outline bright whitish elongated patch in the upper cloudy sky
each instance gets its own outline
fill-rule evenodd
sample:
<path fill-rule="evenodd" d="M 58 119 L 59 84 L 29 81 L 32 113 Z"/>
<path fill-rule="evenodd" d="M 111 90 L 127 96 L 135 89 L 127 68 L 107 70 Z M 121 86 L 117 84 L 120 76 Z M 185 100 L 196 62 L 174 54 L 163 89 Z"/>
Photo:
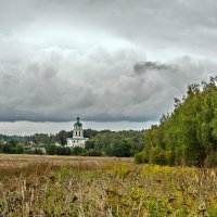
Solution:
<path fill-rule="evenodd" d="M 29 27 L 17 35 L 18 40 L 35 48 L 61 47 L 66 49 L 87 50 L 90 47 L 103 47 L 108 51 L 120 48 L 130 48 L 132 43 L 103 31 L 95 31 L 94 29 L 68 27 L 68 26 L 53 26 L 51 24 Z"/>

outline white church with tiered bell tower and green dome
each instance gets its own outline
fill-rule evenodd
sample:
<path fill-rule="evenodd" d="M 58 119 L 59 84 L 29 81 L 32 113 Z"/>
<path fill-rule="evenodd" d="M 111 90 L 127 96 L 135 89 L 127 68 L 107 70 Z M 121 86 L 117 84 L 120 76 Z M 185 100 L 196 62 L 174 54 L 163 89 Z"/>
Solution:
<path fill-rule="evenodd" d="M 81 146 L 85 148 L 88 138 L 84 138 L 84 130 L 82 124 L 80 123 L 80 118 L 77 117 L 77 122 L 74 124 L 73 129 L 73 138 L 67 138 L 66 146 L 74 148 L 74 146 Z"/>

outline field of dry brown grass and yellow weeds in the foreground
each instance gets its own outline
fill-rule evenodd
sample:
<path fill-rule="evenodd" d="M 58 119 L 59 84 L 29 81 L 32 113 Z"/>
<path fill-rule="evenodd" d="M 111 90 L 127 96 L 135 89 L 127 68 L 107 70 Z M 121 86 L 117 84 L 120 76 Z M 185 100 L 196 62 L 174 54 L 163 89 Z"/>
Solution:
<path fill-rule="evenodd" d="M 217 216 L 217 169 L 0 155 L 0 216 Z"/>

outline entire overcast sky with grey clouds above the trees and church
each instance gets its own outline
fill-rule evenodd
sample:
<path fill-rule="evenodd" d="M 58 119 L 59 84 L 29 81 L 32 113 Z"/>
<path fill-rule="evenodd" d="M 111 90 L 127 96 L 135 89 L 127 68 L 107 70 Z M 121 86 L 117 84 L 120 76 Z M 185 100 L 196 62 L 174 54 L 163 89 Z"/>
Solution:
<path fill-rule="evenodd" d="M 0 133 L 144 129 L 216 76 L 215 0 L 0 0 Z"/>

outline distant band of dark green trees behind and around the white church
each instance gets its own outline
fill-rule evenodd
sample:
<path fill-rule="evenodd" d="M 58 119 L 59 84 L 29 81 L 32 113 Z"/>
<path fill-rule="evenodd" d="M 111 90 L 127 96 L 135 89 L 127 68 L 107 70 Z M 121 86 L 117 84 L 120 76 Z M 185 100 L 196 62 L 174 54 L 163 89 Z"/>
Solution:
<path fill-rule="evenodd" d="M 124 130 L 84 130 L 89 138 L 85 148 L 66 148 L 66 139 L 73 131 L 62 130 L 56 135 L 36 133 L 34 136 L 0 135 L 0 152 L 50 155 L 87 155 L 87 156 L 133 156 L 144 146 L 144 131 Z"/>

